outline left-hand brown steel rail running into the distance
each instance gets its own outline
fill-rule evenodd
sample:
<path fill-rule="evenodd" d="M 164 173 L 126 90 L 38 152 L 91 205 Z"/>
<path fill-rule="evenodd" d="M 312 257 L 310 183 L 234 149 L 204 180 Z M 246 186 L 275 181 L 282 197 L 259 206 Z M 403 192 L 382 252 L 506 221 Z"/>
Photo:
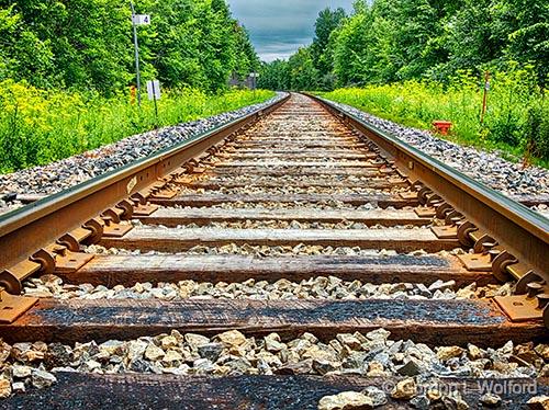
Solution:
<path fill-rule="evenodd" d="M 278 109 L 289 98 L 288 94 L 266 107 L 173 147 L 0 216 L 0 272 L 158 182 L 225 137 Z"/>

